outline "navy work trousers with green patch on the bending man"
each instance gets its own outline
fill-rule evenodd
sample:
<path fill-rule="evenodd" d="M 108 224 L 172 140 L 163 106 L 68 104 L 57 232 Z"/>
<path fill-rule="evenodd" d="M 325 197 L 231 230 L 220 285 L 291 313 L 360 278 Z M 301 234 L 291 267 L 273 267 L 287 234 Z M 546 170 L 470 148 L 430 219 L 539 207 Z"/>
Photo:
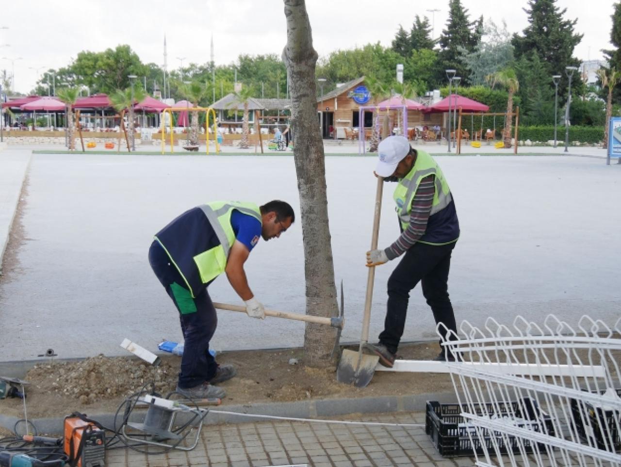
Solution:
<path fill-rule="evenodd" d="M 213 378 L 217 370 L 215 358 L 209 353 L 209 340 L 218 324 L 214 304 L 207 288 L 192 298 L 181 274 L 170 262 L 164 248 L 155 240 L 149 248 L 149 263 L 179 311 L 181 332 L 185 340 L 179 388 L 194 388 Z"/>

